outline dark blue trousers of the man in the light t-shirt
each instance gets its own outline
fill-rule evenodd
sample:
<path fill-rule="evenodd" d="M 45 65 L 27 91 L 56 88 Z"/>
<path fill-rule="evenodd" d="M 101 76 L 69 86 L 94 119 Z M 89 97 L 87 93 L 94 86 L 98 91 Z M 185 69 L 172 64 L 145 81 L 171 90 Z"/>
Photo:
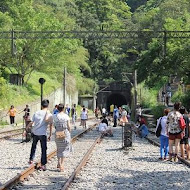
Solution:
<path fill-rule="evenodd" d="M 41 163 L 42 165 L 45 165 L 47 163 L 47 137 L 45 135 L 34 135 L 33 136 L 33 142 L 30 152 L 30 160 L 34 160 L 35 152 L 36 152 L 36 145 L 38 141 L 40 140 L 41 144 Z"/>

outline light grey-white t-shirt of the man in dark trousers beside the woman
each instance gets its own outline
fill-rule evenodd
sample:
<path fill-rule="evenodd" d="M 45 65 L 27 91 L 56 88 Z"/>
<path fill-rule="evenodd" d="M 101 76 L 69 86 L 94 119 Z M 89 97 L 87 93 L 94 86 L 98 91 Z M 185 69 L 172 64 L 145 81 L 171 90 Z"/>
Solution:
<path fill-rule="evenodd" d="M 32 122 L 34 122 L 34 127 L 32 127 L 32 133 L 34 135 L 47 135 L 47 126 L 49 123 L 45 122 L 46 112 L 46 110 L 39 110 L 33 115 Z M 52 114 L 48 113 L 47 117 L 52 117 Z"/>

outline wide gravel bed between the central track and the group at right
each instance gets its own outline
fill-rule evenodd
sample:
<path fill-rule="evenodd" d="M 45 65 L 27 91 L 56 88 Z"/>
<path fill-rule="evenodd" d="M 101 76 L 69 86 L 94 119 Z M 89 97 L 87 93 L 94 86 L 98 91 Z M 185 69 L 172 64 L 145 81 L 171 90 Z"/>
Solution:
<path fill-rule="evenodd" d="M 190 189 L 190 169 L 180 163 L 159 161 L 159 148 L 136 138 L 133 148 L 121 150 L 121 128 L 95 148 L 88 164 L 70 190 L 75 189 Z"/>

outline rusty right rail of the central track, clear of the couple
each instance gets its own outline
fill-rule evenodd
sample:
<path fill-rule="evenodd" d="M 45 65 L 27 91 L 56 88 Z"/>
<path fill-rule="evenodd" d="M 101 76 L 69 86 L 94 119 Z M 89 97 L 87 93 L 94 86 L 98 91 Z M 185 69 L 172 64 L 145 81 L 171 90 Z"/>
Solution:
<path fill-rule="evenodd" d="M 94 150 L 95 146 L 97 143 L 101 142 L 101 136 L 99 136 L 94 143 L 92 144 L 92 146 L 90 147 L 90 149 L 88 150 L 88 152 L 84 155 L 83 159 L 81 160 L 81 162 L 79 163 L 79 165 L 76 167 L 76 169 L 74 170 L 74 172 L 71 174 L 71 176 L 67 179 L 65 185 L 63 186 L 62 190 L 67 190 L 70 186 L 70 184 L 72 183 L 72 181 L 75 179 L 76 175 L 81 171 L 81 169 L 84 167 L 84 165 L 87 163 L 88 158 L 90 156 L 90 154 L 92 153 L 92 151 Z"/>

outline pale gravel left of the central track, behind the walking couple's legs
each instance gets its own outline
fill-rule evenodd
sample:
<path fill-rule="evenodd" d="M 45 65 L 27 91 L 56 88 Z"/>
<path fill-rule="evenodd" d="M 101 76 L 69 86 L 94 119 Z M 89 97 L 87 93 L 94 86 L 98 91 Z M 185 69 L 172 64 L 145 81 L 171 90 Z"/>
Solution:
<path fill-rule="evenodd" d="M 89 120 L 88 125 L 95 123 L 95 120 Z M 77 122 L 77 130 L 72 130 L 72 136 L 78 134 L 84 129 L 79 126 Z M 9 179 L 16 176 L 18 173 L 22 172 L 24 169 L 29 167 L 28 160 L 31 149 L 31 142 L 21 143 L 22 137 L 13 137 L 8 140 L 2 140 L 0 149 L 0 185 L 7 182 Z M 47 144 L 47 153 L 50 153 L 56 149 L 54 134 L 52 139 Z M 41 148 L 40 142 L 38 142 L 35 161 L 41 158 Z"/>

